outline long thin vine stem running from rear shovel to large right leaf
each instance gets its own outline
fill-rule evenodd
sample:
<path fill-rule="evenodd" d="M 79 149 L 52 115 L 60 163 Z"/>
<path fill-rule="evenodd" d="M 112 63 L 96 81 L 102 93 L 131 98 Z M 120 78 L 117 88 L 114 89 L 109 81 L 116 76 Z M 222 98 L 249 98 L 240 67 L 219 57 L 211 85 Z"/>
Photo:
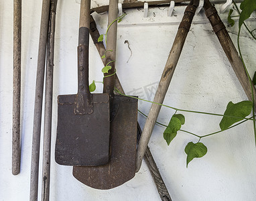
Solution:
<path fill-rule="evenodd" d="M 150 100 L 145 100 L 145 99 L 142 99 L 142 98 L 137 98 L 137 97 L 134 97 L 134 96 L 128 96 L 128 95 L 122 94 L 117 88 L 115 88 L 115 90 L 116 90 L 117 93 L 121 94 L 122 96 L 127 96 L 127 97 L 130 97 L 130 98 L 135 98 L 137 100 L 143 100 L 145 102 L 161 105 L 161 106 L 164 106 L 164 107 L 168 107 L 168 108 L 176 110 L 176 111 L 182 111 L 182 112 L 187 112 L 187 113 L 199 113 L 199 114 L 203 114 L 203 115 L 214 115 L 214 116 L 220 116 L 220 117 L 232 117 L 232 118 L 236 118 L 236 119 L 252 120 L 252 119 L 249 119 L 249 118 L 234 117 L 234 116 L 230 116 L 230 115 L 220 115 L 220 114 L 216 114 L 216 113 L 205 113 L 205 112 L 201 112 L 201 111 L 190 111 L 190 110 L 178 109 L 176 107 L 171 107 L 169 105 L 164 105 L 164 104 L 161 104 L 161 103 L 155 103 L 155 102 L 150 101 Z"/>

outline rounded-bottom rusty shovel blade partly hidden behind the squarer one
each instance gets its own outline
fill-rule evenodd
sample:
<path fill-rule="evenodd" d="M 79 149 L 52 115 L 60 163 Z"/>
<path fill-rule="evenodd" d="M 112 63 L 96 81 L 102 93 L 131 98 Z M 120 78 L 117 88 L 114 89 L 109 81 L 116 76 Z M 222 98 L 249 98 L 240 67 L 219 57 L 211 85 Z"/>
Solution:
<path fill-rule="evenodd" d="M 73 176 L 92 188 L 111 189 L 135 176 L 137 99 L 115 96 L 117 113 L 111 121 L 111 158 L 107 165 L 73 167 Z"/>

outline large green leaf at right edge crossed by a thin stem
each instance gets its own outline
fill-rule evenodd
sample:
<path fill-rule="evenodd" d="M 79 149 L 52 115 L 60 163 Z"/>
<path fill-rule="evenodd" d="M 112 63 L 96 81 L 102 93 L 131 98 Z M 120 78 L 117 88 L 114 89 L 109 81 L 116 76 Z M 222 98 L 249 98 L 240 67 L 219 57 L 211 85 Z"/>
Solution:
<path fill-rule="evenodd" d="M 253 103 L 250 100 L 244 100 L 235 104 L 232 102 L 229 102 L 224 115 L 233 116 L 233 117 L 222 117 L 220 121 L 220 129 L 224 131 L 234 123 L 237 123 L 238 121 L 243 120 L 243 118 L 250 115 L 252 108 L 253 108 Z M 241 118 L 235 118 L 235 117 L 241 117 Z"/>

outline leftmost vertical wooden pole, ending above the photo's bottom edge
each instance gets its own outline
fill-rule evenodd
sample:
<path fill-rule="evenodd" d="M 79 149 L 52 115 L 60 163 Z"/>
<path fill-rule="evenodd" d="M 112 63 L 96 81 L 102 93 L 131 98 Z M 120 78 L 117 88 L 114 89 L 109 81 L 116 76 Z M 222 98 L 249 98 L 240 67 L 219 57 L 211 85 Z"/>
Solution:
<path fill-rule="evenodd" d="M 20 96 L 21 96 L 21 0 L 13 1 L 13 137 L 12 174 L 20 172 Z"/>

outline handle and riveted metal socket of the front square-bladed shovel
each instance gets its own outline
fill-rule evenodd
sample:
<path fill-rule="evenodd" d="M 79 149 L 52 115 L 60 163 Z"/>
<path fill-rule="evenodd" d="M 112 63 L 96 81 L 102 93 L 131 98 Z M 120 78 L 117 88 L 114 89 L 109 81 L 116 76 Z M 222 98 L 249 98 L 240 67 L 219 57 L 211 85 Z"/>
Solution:
<path fill-rule="evenodd" d="M 89 28 L 90 28 L 90 0 L 81 0 L 78 36 L 78 92 L 74 113 L 84 115 L 92 113 L 92 100 L 89 90 Z"/>

